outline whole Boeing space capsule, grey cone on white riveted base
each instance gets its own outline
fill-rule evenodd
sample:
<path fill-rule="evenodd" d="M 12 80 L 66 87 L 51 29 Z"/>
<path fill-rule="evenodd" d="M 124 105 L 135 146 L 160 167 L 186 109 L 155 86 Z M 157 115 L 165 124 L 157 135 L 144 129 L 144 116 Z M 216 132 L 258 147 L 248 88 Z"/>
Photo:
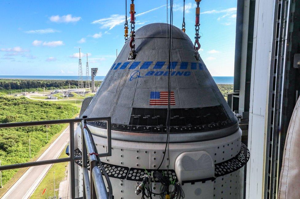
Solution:
<path fill-rule="evenodd" d="M 170 24 L 148 24 L 136 31 L 135 59 L 128 59 L 129 40 L 92 100 L 85 100 L 81 116 L 111 117 L 112 156 L 101 159 L 115 199 L 141 198 L 136 187 L 156 171 L 179 182 L 185 198 L 240 198 L 243 166 L 249 151 L 242 131 L 191 39 Z M 170 74 L 170 76 L 169 76 Z M 168 87 L 170 77 L 171 86 Z M 89 122 L 98 153 L 106 152 L 106 123 Z M 81 129 L 77 128 L 77 154 Z M 78 180 L 82 167 L 77 164 Z M 166 173 L 168 169 L 168 174 Z M 83 195 L 78 183 L 78 196 Z M 152 182 L 152 198 L 160 198 L 161 184 Z"/>

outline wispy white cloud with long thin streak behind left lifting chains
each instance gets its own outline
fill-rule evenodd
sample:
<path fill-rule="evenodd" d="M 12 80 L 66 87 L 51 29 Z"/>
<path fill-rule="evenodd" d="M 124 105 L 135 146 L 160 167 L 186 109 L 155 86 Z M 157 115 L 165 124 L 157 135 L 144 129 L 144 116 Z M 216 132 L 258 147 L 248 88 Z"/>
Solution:
<path fill-rule="evenodd" d="M 143 13 L 136 14 L 135 16 L 136 17 L 141 16 L 143 14 L 152 12 L 152 11 L 154 11 L 156 9 L 159 9 L 159 8 L 162 8 L 164 6 L 166 6 L 166 5 L 150 9 L 150 10 L 145 11 Z M 130 21 L 130 18 L 128 20 L 128 24 L 129 24 L 129 21 Z M 92 22 L 92 24 L 101 24 L 101 28 L 109 28 L 109 30 L 111 30 L 117 25 L 124 24 L 124 22 L 125 22 L 125 15 L 113 14 L 110 17 L 95 20 L 95 21 Z"/>

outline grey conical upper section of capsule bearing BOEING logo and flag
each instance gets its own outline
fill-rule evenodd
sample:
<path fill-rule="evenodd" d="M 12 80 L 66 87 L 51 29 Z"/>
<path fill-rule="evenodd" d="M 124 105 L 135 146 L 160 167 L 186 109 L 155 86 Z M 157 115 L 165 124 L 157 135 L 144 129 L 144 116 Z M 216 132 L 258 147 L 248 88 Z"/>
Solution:
<path fill-rule="evenodd" d="M 164 23 L 136 31 L 136 58 L 128 60 L 129 40 L 120 51 L 85 111 L 88 117 L 112 117 L 112 130 L 165 133 L 168 114 L 168 70 L 171 70 L 171 133 L 213 131 L 237 124 L 203 60 L 195 58 L 191 39 Z M 102 122 L 91 123 L 103 127 Z M 224 131 L 220 137 L 237 130 Z"/>

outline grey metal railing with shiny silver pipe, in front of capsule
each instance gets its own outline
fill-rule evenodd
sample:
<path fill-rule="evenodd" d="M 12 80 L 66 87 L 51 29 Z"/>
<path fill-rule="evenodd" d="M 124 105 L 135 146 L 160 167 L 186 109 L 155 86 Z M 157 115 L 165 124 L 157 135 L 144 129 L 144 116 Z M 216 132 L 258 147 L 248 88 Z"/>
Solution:
<path fill-rule="evenodd" d="M 82 124 L 86 124 L 86 122 L 96 122 L 96 121 L 107 121 L 107 138 L 108 138 L 108 152 L 99 154 L 99 157 L 111 156 L 111 118 L 84 118 L 84 122 L 82 118 L 75 119 L 62 119 L 62 120 L 45 120 L 45 121 L 35 121 L 35 122 L 16 122 L 16 123 L 2 123 L 0 124 L 0 128 L 14 128 L 14 127 L 24 127 L 24 126 L 39 126 L 39 125 L 51 125 L 51 124 L 65 124 L 69 123 L 70 127 L 70 142 L 69 142 L 69 157 L 68 158 L 60 158 L 60 159 L 52 159 L 52 160 L 41 160 L 35 162 L 26 162 L 26 163 L 18 163 L 18 164 L 10 164 L 0 166 L 0 171 L 9 170 L 9 169 L 17 169 L 23 167 L 33 167 L 45 164 L 53 164 L 53 163 L 61 163 L 61 162 L 70 162 L 70 195 L 71 198 L 75 198 L 75 161 L 82 160 L 83 163 L 83 182 L 84 182 L 84 198 L 108 198 L 108 194 L 106 192 L 104 180 L 101 174 L 99 167 L 97 164 L 101 164 L 99 158 L 97 158 L 97 153 L 94 148 L 93 137 L 90 136 L 88 128 L 81 128 L 82 132 L 85 132 L 84 136 L 82 136 L 82 145 L 86 147 L 82 147 L 82 156 L 74 156 L 74 123 L 81 122 Z M 85 125 L 84 125 L 85 126 Z M 85 130 L 83 130 L 85 129 Z M 92 189 L 90 192 L 89 189 L 89 174 L 87 169 L 87 152 L 89 152 L 89 162 L 90 162 L 90 171 L 91 171 L 91 185 Z M 92 153 L 92 154 L 91 154 Z M 93 154 L 94 153 L 94 154 Z M 92 160 L 92 161 L 91 161 Z M 97 161 L 96 161 L 97 160 Z M 99 160 L 99 161 L 98 161 Z M 102 166 L 102 164 L 101 164 Z M 95 167 L 95 168 L 94 168 Z M 97 167 L 97 168 L 96 168 Z M 106 172 L 104 172 L 106 173 Z M 109 181 L 109 179 L 106 179 Z M 110 184 L 110 182 L 109 182 Z M 103 189 L 105 188 L 105 190 Z M 99 195 L 100 194 L 100 195 Z M 98 197 L 99 195 L 99 197 Z M 102 196 L 103 195 L 103 196 Z M 102 197 L 101 197 L 102 196 Z M 106 197 L 105 197 L 106 196 Z"/>

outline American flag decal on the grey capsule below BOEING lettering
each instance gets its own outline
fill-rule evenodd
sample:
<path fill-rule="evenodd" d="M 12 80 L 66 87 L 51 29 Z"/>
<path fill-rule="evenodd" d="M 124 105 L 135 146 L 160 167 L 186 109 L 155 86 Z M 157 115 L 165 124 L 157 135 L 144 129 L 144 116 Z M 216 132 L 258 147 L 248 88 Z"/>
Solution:
<path fill-rule="evenodd" d="M 150 105 L 168 105 L 168 91 L 151 92 Z M 174 92 L 170 92 L 170 105 L 175 105 Z"/>

